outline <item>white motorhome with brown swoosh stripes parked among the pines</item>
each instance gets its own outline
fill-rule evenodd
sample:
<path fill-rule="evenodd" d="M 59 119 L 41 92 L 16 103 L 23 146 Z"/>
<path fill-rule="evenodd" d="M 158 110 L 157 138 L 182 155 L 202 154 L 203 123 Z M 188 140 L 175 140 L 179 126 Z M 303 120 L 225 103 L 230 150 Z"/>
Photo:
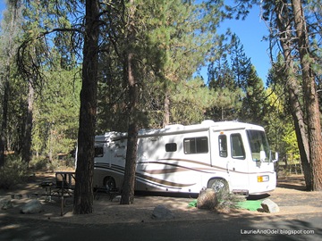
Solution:
<path fill-rule="evenodd" d="M 94 187 L 121 188 L 126 133 L 96 137 Z M 275 189 L 272 152 L 264 129 L 237 121 L 141 129 L 135 190 L 198 194 L 203 187 L 244 195 Z"/>

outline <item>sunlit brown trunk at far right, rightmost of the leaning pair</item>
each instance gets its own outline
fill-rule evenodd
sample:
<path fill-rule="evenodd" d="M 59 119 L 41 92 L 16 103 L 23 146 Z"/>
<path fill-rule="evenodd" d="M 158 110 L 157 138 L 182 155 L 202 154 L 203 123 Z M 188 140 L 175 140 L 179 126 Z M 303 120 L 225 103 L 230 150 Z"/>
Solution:
<path fill-rule="evenodd" d="M 322 191 L 322 137 L 319 120 L 318 93 L 314 73 L 310 68 L 312 59 L 309 54 L 309 38 L 301 0 L 292 0 L 296 35 L 301 60 L 301 77 L 303 79 L 304 103 L 307 107 L 309 135 L 309 163 L 312 172 L 312 191 Z"/>

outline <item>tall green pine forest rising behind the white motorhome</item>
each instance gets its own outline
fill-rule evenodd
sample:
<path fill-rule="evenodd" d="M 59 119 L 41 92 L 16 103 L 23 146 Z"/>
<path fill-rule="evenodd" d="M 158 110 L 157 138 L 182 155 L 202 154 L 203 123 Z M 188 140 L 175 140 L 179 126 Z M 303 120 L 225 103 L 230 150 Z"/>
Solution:
<path fill-rule="evenodd" d="M 21 163 L 55 166 L 58 156 L 75 149 L 89 28 L 98 29 L 92 49 L 97 53 L 97 93 L 92 92 L 96 134 L 129 131 L 132 119 L 136 128 L 239 120 L 263 126 L 281 163 L 302 168 L 301 143 L 310 137 L 311 115 L 302 88 L 306 82 L 293 23 L 295 2 L 8 0 L 0 32 L 0 166 L 10 169 L 3 173 L 12 175 Z M 93 3 L 97 19 L 88 26 L 90 12 L 85 10 Z M 267 23 L 267 79 L 258 77 L 238 36 L 230 29 L 217 31 L 226 19 L 242 21 L 253 4 Z M 320 1 L 302 1 L 301 7 L 320 103 Z M 205 66 L 208 79 L 199 72 Z M 129 73 L 135 77 L 132 87 Z M 294 110 L 303 113 L 302 123 Z M 299 120 L 304 134 L 296 131 Z"/>

